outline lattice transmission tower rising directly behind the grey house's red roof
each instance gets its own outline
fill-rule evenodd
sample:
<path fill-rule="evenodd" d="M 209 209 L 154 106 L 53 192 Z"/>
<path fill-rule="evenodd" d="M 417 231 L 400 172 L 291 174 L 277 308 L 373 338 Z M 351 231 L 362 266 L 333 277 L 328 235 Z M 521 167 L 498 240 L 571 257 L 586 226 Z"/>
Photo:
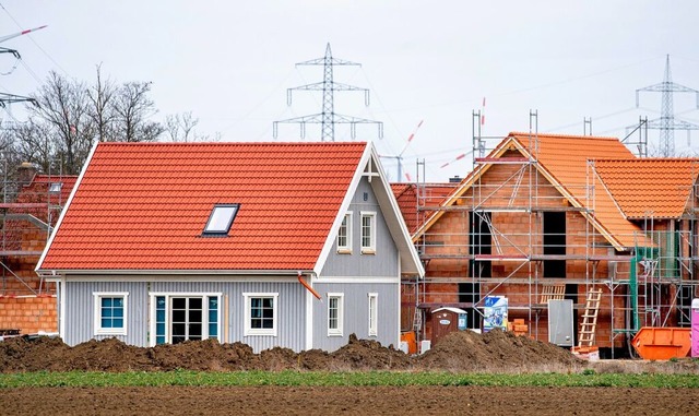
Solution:
<path fill-rule="evenodd" d="M 310 116 L 301 116 L 289 118 L 286 120 L 274 121 L 273 134 L 276 139 L 277 124 L 283 123 L 297 123 L 300 126 L 300 136 L 306 138 L 306 123 L 322 124 L 321 141 L 334 142 L 335 141 L 335 124 L 350 124 L 350 134 L 352 139 L 356 138 L 356 124 L 374 123 L 379 128 L 379 139 L 383 138 L 383 123 L 381 121 L 367 120 L 363 118 L 356 118 L 351 116 L 339 115 L 334 110 L 334 93 L 336 91 L 364 91 L 364 104 L 369 106 L 369 90 L 359 88 L 357 86 L 341 84 L 334 82 L 332 79 L 333 67 L 337 66 L 359 66 L 359 63 L 345 61 L 342 59 L 333 58 L 330 50 L 330 44 L 325 47 L 325 56 L 318 59 L 311 59 L 310 61 L 299 62 L 298 66 L 323 66 L 323 81 L 315 84 L 307 84 L 288 88 L 286 91 L 286 105 L 292 105 L 292 93 L 294 91 L 322 91 L 323 92 L 323 108 L 322 112 Z"/>

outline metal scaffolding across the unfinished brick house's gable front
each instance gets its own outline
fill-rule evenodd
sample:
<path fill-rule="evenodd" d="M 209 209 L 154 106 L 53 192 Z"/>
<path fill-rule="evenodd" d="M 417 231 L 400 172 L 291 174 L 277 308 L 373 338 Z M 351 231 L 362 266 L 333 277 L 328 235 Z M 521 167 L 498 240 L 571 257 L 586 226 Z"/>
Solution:
<path fill-rule="evenodd" d="M 566 187 L 565 192 L 574 193 L 579 202 L 570 203 L 561 198 L 561 187 L 537 169 L 536 112 L 530 114 L 528 157 L 507 150 L 486 157 L 503 138 L 483 136 L 479 119 L 474 112 L 473 171 L 462 182 L 469 186 L 465 193 L 449 201 L 435 198 L 431 186 L 420 182 L 418 170 L 418 223 L 425 224 L 438 211 L 443 221 L 443 226 L 430 227 L 415 241 L 431 272 L 403 288 L 403 299 L 408 300 L 404 305 L 414 305 L 406 316 L 418 340 L 428 337 L 428 311 L 439 307 L 466 310 L 469 326 L 479 330 L 485 299 L 494 295 L 509 298 L 510 313 L 526 318 L 529 335 L 537 340 L 548 333 L 543 325 L 548 321 L 548 300 L 571 299 L 578 338 L 579 312 L 585 309 L 588 294 L 601 288 L 606 290 L 595 322 L 605 330 L 596 342 L 611 349 L 612 358 L 615 349 L 618 354 L 628 348 L 632 355 L 630 340 L 641 326 L 689 324 L 699 260 L 696 185 L 683 218 L 666 222 L 661 230 L 656 227 L 662 222 L 649 213 L 636 222 L 642 235 L 631 236 L 640 242 L 617 251 L 592 224 L 600 198 L 593 162 L 588 162 L 581 189 Z M 484 181 L 485 171 L 497 181 Z"/>

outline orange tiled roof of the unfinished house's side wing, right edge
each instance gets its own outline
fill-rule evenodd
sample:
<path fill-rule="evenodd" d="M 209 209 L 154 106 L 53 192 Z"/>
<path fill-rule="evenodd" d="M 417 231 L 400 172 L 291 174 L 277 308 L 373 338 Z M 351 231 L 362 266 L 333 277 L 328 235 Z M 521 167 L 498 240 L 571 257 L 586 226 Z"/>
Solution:
<path fill-rule="evenodd" d="M 699 159 L 596 161 L 594 168 L 627 218 L 679 218 L 697 182 Z"/>

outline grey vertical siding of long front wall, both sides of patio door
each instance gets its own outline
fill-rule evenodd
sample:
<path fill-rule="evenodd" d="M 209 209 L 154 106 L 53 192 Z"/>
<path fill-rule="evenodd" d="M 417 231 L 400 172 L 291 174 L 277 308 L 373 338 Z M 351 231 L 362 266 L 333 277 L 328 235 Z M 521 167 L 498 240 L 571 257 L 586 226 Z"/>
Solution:
<path fill-rule="evenodd" d="M 115 278 L 119 278 L 115 276 Z M 282 346 L 303 350 L 306 346 L 306 289 L 296 280 L 286 282 L 68 282 L 64 286 L 66 334 L 64 342 L 76 345 L 91 338 L 114 335 L 94 334 L 93 292 L 127 292 L 127 335 L 117 336 L 137 346 L 149 345 L 151 293 L 221 293 L 222 340 L 225 343 L 242 342 L 256 353 Z M 203 278 L 199 276 L 198 278 Z M 252 277 L 251 277 L 252 278 Z M 277 293 L 277 336 L 244 336 L 244 293 Z M 227 316 L 223 316 L 226 313 Z"/>

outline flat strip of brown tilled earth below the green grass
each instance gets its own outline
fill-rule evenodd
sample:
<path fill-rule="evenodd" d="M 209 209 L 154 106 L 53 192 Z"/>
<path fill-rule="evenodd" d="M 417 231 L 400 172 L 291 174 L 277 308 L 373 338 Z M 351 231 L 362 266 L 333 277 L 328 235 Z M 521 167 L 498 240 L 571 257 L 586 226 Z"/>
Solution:
<path fill-rule="evenodd" d="M 9 389 L 3 415 L 696 415 L 696 389 L 110 388 Z"/>

